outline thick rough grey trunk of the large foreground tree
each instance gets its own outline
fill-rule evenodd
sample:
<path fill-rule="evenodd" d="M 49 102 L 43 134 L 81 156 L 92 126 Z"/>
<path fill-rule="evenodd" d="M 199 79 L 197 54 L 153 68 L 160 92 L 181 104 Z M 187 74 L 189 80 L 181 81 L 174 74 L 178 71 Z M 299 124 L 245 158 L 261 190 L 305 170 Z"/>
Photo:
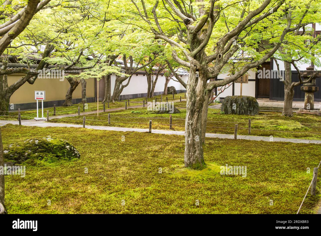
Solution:
<path fill-rule="evenodd" d="M 202 147 L 202 110 L 205 99 L 206 79 L 202 71 L 199 77 L 191 68 L 187 83 L 187 105 L 185 121 L 185 167 L 201 168 L 204 163 Z M 206 99 L 206 101 L 208 101 Z"/>

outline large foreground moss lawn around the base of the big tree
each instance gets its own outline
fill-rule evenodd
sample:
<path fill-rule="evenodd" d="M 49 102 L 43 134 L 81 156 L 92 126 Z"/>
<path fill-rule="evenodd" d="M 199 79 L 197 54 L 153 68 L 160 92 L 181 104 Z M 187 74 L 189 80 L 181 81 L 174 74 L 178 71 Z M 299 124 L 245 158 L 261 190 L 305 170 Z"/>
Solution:
<path fill-rule="evenodd" d="M 207 167 L 191 170 L 182 167 L 183 136 L 64 127 L 18 130 L 14 125 L 1 129 L 4 145 L 50 135 L 70 141 L 81 155 L 71 162 L 27 165 L 25 178 L 5 176 L 11 214 L 294 214 L 312 179 L 306 169 L 320 161 L 320 145 L 315 144 L 207 139 Z M 225 164 L 247 166 L 247 177 L 221 175 Z M 308 194 L 302 214 L 315 212 L 320 183 L 316 196 Z"/>

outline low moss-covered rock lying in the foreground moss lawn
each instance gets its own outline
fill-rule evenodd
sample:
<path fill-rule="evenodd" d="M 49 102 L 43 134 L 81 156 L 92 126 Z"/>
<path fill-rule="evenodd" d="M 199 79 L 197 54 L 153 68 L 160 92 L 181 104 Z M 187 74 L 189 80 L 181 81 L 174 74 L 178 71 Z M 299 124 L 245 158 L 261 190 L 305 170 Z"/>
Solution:
<path fill-rule="evenodd" d="M 63 139 L 32 138 L 4 146 L 4 160 L 22 163 L 28 160 L 46 161 L 72 160 L 80 158 L 79 152 Z"/>

